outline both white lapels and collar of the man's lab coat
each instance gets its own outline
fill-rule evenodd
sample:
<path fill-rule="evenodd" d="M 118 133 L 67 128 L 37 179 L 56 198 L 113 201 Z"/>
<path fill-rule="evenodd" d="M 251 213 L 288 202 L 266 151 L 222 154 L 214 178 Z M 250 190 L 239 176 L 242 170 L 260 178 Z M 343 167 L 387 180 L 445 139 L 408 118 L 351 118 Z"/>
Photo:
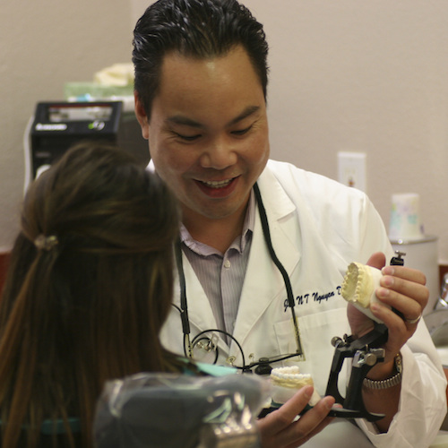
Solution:
<path fill-rule="evenodd" d="M 288 219 L 296 211 L 296 205 L 289 199 L 288 194 L 285 193 L 269 168 L 265 168 L 261 177 L 259 177 L 258 185 L 271 230 L 272 246 L 280 259 L 280 263 L 283 264 L 290 275 L 300 259 L 300 237 L 297 232 L 297 222 L 294 219 Z M 191 264 L 188 262 L 185 254 L 182 255 L 182 258 L 185 271 L 186 296 L 189 299 L 189 320 L 192 326 L 195 327 L 192 329 L 192 338 L 194 338 L 197 332 L 217 328 L 217 323 L 211 312 L 209 300 Z M 177 275 L 175 279 L 177 280 Z M 178 282 L 176 281 L 176 283 L 176 289 L 178 290 Z M 271 304 L 271 301 L 280 294 L 286 298 L 284 281 L 280 271 L 271 261 L 271 255 L 264 241 L 262 223 L 257 210 L 255 213 L 251 254 L 233 334 L 240 344 L 244 343 L 254 324 L 262 317 L 263 312 Z M 178 300 L 178 295 L 176 295 L 175 302 L 177 305 L 179 305 Z M 236 357 L 239 355 L 239 349 L 237 349 L 235 342 L 230 343 L 229 349 L 227 343 L 220 338 L 219 348 L 229 355 L 235 355 Z M 240 358 L 237 360 L 237 363 L 239 362 Z"/>

